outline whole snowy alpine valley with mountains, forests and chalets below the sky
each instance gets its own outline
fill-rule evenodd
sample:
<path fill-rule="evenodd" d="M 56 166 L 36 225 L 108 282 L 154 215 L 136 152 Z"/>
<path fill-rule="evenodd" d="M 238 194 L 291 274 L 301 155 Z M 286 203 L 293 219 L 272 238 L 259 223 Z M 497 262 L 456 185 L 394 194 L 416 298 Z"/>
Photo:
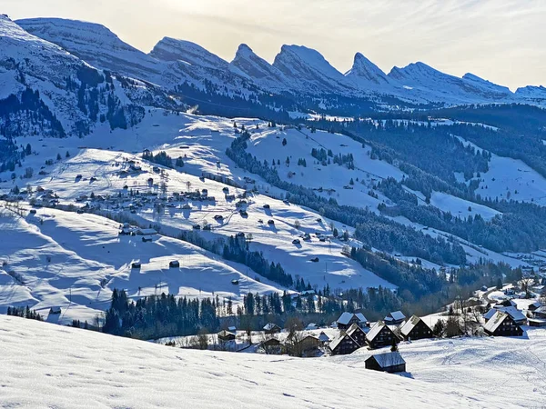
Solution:
<path fill-rule="evenodd" d="M 476 313 L 518 298 L 503 307 L 532 320 L 532 303 L 546 295 L 546 88 L 512 92 L 421 62 L 387 74 L 360 53 L 341 73 L 303 45 L 282 45 L 272 64 L 246 44 L 234 51 L 226 61 L 164 37 L 145 53 L 104 25 L 0 15 L 0 314 L 202 349 L 215 344 L 211 334 L 237 326 L 229 330 L 232 350 L 267 354 L 253 334 L 278 325 L 287 334 L 274 339 L 288 340 L 297 356 L 304 354 L 294 353 L 296 329 L 324 328 L 332 340 L 339 335 L 336 343 L 352 336 L 356 327 L 342 328 L 344 313 L 379 324 L 401 311 L 426 317 L 434 331 L 449 314 L 464 324 L 450 336 L 468 337 L 410 342 L 401 326 L 393 329 L 406 343 L 403 372 L 416 379 L 396 378 L 385 402 L 362 393 L 367 406 L 392 407 L 406 394 L 410 407 L 437 407 L 444 397 L 449 407 L 546 404 L 545 330 L 484 341 L 478 335 L 493 318 Z M 214 387 L 213 376 L 227 395 L 236 378 L 257 389 L 267 384 L 248 407 L 262 394 L 271 407 L 355 407 L 356 397 L 330 389 L 336 371 L 355 389 L 356 375 L 374 390 L 392 379 L 364 370 L 365 348 L 306 364 L 267 356 L 249 363 L 21 321 L 0 319 L 0 345 L 23 356 L 26 347 L 34 351 L 37 331 L 48 359 L 67 368 L 57 344 L 66 336 L 70 356 L 85 355 L 81 387 L 97 376 L 93 345 L 116 355 L 116 365 L 136 368 L 136 356 L 152 356 L 153 383 L 187 364 L 197 389 Z M 343 331 L 331 333 L 332 322 Z M 249 341 L 239 344 L 244 336 Z M 80 339 L 83 350 L 74 346 Z M 525 342 L 542 364 L 530 364 Z M 330 349 L 324 354 L 336 354 Z M 513 351 L 519 366 L 507 358 Z M 25 365 L 38 359 L 32 354 Z M 510 391 L 488 397 L 497 358 L 508 368 L 497 378 L 504 384 L 531 368 L 517 384 L 526 399 Z M 103 369 L 115 364 L 100 359 Z M 22 379 L 16 360 L 8 361 L 10 376 Z M 277 370 L 291 371 L 298 386 L 290 389 Z M 319 375 L 311 391 L 302 377 L 312 371 Z M 25 386 L 4 376 L 0 405 L 20 404 Z M 458 376 L 476 384 L 450 384 Z M 177 385 L 163 386 L 154 387 L 164 399 L 146 396 L 148 405 L 176 406 Z M 311 392 L 295 397 L 294 388 Z M 45 386 L 38 392 L 45 400 L 29 398 L 28 407 L 55 404 Z M 108 401 L 106 392 L 92 401 L 144 402 L 123 391 Z M 237 392 L 227 404 L 244 401 Z M 74 407 L 72 398 L 63 403 Z"/>

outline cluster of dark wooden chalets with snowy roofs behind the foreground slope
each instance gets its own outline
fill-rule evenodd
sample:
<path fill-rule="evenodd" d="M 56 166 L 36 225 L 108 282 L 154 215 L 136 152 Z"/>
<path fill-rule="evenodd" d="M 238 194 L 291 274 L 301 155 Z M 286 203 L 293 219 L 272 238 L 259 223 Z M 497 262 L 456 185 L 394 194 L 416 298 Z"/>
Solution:
<path fill-rule="evenodd" d="M 528 305 L 527 314 L 523 314 L 513 301 L 507 300 L 493 305 L 483 314 L 485 334 L 492 336 L 521 336 L 521 325 L 546 324 L 546 306 L 536 301 Z M 259 347 L 268 354 L 294 353 L 298 349 L 298 356 L 317 356 L 326 352 L 331 355 L 352 354 L 359 348 L 367 348 L 370 351 L 378 348 L 390 347 L 390 351 L 381 350 L 379 354 L 372 354 L 365 361 L 368 369 L 396 373 L 405 372 L 406 363 L 398 352 L 396 344 L 400 341 L 419 340 L 433 338 L 434 334 L 428 324 L 419 316 L 406 317 L 400 311 L 394 311 L 370 325 L 369 320 L 361 313 L 343 313 L 332 324 L 338 328 L 339 333 L 330 339 L 324 331 L 319 334 L 300 333 L 298 339 L 291 338 L 289 334 L 284 340 L 280 340 L 276 334 L 282 329 L 277 324 L 266 324 L 262 330 L 266 339 Z M 306 330 L 315 330 L 317 325 L 309 324 Z M 236 339 L 235 328 L 224 330 L 217 334 L 221 342 Z"/>

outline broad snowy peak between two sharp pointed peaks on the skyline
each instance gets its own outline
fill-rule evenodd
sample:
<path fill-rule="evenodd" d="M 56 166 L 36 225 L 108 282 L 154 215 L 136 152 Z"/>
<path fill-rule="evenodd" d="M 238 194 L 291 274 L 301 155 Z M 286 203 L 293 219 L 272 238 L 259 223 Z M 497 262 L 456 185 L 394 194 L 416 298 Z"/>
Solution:
<path fill-rule="evenodd" d="M 351 82 L 319 54 L 303 45 L 283 45 L 273 66 L 305 93 L 354 94 Z"/>

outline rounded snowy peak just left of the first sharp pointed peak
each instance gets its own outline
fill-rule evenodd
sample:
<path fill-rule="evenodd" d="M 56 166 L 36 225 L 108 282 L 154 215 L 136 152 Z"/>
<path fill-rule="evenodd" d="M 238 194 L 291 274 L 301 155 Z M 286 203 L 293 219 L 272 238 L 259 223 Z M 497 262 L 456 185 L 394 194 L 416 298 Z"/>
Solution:
<path fill-rule="evenodd" d="M 184 61 L 190 65 L 227 69 L 226 60 L 212 54 L 201 45 L 172 37 L 163 37 L 149 55 L 163 61 Z"/>

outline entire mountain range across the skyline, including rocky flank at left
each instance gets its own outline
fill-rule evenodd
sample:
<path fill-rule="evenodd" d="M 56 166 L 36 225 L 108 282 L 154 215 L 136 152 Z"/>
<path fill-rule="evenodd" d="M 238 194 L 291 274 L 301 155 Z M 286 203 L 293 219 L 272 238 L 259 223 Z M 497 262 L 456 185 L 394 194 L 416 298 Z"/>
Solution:
<path fill-rule="evenodd" d="M 227 62 L 170 37 L 146 54 L 104 25 L 60 18 L 12 21 L 7 15 L 0 17 L 0 41 L 0 103 L 10 95 L 20 99 L 27 88 L 37 91 L 49 110 L 40 114 L 40 130 L 58 122 L 69 135 L 86 135 L 99 121 L 112 128 L 136 124 L 146 106 L 199 105 L 208 114 L 274 118 L 282 112 L 354 116 L 390 107 L 546 104 L 542 86 L 512 93 L 477 75 L 460 78 L 423 63 L 386 74 L 360 53 L 342 74 L 303 45 L 283 45 L 272 64 L 245 44 Z M 12 127 L 12 135 L 17 115 L 4 113 L 0 121 Z"/>

